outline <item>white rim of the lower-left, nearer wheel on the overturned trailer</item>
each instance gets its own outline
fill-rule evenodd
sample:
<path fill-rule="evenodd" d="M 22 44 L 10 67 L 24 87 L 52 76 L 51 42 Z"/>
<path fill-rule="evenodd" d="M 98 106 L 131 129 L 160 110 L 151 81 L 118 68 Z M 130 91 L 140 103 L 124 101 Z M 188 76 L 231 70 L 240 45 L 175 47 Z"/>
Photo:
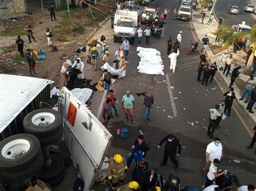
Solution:
<path fill-rule="evenodd" d="M 16 139 L 4 145 L 1 154 L 6 159 L 21 157 L 30 149 L 30 143 L 26 139 Z"/>

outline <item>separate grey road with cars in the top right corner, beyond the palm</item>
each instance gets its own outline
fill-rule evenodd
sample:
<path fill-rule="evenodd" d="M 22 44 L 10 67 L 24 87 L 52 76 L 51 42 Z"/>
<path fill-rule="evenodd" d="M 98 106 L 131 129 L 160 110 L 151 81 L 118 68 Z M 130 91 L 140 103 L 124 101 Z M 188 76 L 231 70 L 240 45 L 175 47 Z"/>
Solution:
<path fill-rule="evenodd" d="M 253 13 L 244 12 L 243 9 L 245 3 L 246 0 L 217 0 L 214 8 L 215 15 L 217 16 L 217 18 L 219 18 L 220 16 L 224 17 L 223 24 L 228 26 L 241 24 L 243 21 L 245 21 L 247 25 L 252 27 L 255 24 L 256 17 L 253 15 Z M 230 4 L 239 6 L 240 11 L 238 15 L 228 13 Z"/>

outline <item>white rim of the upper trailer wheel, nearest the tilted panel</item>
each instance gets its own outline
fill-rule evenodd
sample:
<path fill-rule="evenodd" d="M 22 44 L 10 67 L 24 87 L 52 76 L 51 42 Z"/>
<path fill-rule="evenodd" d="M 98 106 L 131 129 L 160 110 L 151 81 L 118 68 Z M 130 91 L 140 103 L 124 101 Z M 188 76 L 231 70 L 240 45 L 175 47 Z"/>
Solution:
<path fill-rule="evenodd" d="M 55 121 L 55 116 L 49 112 L 42 112 L 34 115 L 31 121 L 34 125 L 46 126 Z"/>

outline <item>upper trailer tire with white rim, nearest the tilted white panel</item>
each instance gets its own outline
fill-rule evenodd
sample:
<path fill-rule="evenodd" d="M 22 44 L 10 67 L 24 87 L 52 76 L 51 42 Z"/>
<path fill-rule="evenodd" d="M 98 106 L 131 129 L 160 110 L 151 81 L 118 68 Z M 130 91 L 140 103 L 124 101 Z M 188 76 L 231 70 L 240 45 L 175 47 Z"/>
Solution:
<path fill-rule="evenodd" d="M 58 137 L 56 134 L 63 132 L 62 116 L 53 109 L 38 109 L 30 112 L 24 117 L 23 126 L 25 133 L 36 136 L 40 141 L 43 140 L 43 146 L 45 139 L 49 139 L 50 144 L 55 143 Z"/>

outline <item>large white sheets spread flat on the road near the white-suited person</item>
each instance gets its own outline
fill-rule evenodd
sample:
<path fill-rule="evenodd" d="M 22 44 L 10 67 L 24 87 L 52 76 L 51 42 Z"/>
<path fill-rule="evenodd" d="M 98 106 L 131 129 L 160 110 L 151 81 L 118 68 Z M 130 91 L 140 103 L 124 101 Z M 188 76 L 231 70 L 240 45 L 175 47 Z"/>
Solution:
<path fill-rule="evenodd" d="M 140 57 L 139 73 L 164 75 L 164 65 L 161 53 L 154 48 L 137 47 L 137 54 Z"/>

